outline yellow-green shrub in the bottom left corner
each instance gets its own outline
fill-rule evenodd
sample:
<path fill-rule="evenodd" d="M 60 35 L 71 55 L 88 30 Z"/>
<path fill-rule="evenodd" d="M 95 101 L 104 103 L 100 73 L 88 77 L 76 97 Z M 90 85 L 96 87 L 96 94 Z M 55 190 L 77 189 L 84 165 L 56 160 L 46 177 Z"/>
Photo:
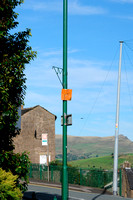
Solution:
<path fill-rule="evenodd" d="M 16 188 L 17 176 L 11 172 L 6 172 L 0 168 L 0 199 L 1 200 L 20 200 L 22 192 Z"/>

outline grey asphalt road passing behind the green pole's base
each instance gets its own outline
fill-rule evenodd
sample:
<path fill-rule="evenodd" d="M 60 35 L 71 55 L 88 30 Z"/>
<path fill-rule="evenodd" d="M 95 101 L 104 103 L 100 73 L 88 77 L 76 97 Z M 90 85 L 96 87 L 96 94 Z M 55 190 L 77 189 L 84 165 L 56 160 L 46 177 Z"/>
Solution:
<path fill-rule="evenodd" d="M 35 193 L 33 193 L 35 192 Z M 36 196 L 36 198 L 34 198 Z M 24 199 L 37 200 L 53 200 L 56 196 L 57 200 L 61 200 L 61 189 L 53 186 L 29 184 L 28 191 L 24 194 Z M 69 190 L 69 200 L 131 200 L 119 196 L 107 194 L 88 193 L 82 191 Z"/>

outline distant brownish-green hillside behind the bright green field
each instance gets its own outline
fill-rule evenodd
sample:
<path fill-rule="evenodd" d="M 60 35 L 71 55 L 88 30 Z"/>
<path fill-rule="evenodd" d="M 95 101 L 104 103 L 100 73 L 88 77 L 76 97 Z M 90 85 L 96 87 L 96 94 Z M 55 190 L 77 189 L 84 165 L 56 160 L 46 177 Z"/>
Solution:
<path fill-rule="evenodd" d="M 68 161 L 108 156 L 114 152 L 112 137 L 68 136 Z M 119 135 L 119 154 L 133 153 L 133 142 Z M 62 157 L 62 136 L 56 135 L 56 158 Z"/>

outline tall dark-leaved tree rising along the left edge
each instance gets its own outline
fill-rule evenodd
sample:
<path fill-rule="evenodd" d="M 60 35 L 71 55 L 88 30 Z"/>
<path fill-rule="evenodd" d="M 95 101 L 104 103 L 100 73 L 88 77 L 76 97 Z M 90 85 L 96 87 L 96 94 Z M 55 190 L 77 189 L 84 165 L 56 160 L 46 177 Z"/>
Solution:
<path fill-rule="evenodd" d="M 0 152 L 13 150 L 13 137 L 20 133 L 15 125 L 26 90 L 25 64 L 36 56 L 28 44 L 30 29 L 11 34 L 18 25 L 15 8 L 22 3 L 0 1 Z"/>

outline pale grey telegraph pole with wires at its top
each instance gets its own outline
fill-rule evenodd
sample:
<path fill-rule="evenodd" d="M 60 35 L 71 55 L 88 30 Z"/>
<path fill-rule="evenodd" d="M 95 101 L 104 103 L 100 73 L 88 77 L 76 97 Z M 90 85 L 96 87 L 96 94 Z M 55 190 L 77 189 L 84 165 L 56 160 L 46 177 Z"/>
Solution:
<path fill-rule="evenodd" d="M 117 177 L 118 177 L 118 136 L 119 136 L 119 109 L 120 109 L 120 84 L 121 84 L 121 57 L 122 44 L 120 41 L 120 57 L 117 88 L 117 108 L 116 108 L 116 127 L 115 127 L 115 147 L 114 147 L 114 172 L 113 172 L 113 195 L 117 195 Z"/>

